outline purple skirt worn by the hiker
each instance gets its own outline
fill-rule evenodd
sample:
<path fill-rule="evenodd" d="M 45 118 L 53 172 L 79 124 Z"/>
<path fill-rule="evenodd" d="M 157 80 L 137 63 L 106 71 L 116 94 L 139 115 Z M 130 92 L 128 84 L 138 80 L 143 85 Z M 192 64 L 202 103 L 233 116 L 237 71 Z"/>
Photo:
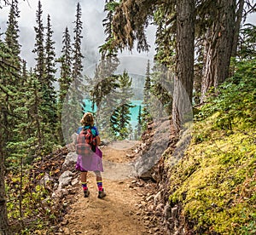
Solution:
<path fill-rule="evenodd" d="M 76 163 L 76 169 L 80 171 L 102 171 L 102 151 L 96 147 L 96 152 L 88 156 L 78 156 L 78 161 Z"/>

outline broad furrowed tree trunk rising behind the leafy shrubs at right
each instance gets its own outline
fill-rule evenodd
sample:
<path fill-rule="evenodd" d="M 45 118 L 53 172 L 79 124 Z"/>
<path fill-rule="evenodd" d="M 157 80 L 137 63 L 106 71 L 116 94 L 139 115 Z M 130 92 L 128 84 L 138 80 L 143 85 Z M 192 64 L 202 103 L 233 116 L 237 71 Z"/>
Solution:
<path fill-rule="evenodd" d="M 217 6 L 217 18 L 207 35 L 205 68 L 202 77 L 201 102 L 209 88 L 218 88 L 229 76 L 230 57 L 234 40 L 236 0 L 221 0 Z"/>

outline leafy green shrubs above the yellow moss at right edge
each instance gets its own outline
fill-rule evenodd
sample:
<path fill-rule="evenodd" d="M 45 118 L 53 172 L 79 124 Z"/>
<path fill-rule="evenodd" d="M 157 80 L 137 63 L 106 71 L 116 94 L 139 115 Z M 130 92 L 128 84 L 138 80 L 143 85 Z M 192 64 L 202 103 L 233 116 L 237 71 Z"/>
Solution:
<path fill-rule="evenodd" d="M 256 123 L 256 60 L 236 63 L 236 73 L 227 79 L 218 89 L 217 97 L 211 96 L 197 120 L 218 112 L 213 126 L 217 129 L 244 129 Z"/>

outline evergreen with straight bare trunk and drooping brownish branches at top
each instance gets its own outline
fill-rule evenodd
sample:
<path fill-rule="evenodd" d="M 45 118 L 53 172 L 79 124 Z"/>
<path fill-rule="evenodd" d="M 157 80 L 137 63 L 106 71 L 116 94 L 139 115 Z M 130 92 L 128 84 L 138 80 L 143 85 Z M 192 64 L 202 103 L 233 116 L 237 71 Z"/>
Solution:
<path fill-rule="evenodd" d="M 113 41 L 111 46 L 119 49 L 133 49 L 137 42 L 138 51 L 147 51 L 148 42 L 145 35 L 145 28 L 149 19 L 157 14 L 157 10 L 162 6 L 164 11 L 160 18 L 166 21 L 166 29 L 176 26 L 177 31 L 172 35 L 166 30 L 164 37 L 176 37 L 174 92 L 172 100 L 172 118 L 177 129 L 184 121 L 184 113 L 189 108 L 192 101 L 193 79 L 194 79 L 194 43 L 195 43 L 195 1 L 144 1 L 138 4 L 136 0 L 120 2 L 115 9 L 113 16 Z M 174 6 L 174 7 L 173 7 Z M 175 11 L 173 11 L 173 9 Z M 175 24 L 174 24 L 174 20 Z M 189 36 L 188 36 L 189 35 Z M 168 42 L 168 40 L 166 40 Z M 168 45 L 166 46 L 166 49 Z M 173 65 L 170 65 L 173 66 Z M 167 66 L 169 68 L 169 66 Z M 169 79 L 171 77 L 166 77 Z M 186 97 L 185 97 L 186 96 Z M 187 97 L 188 96 L 188 97 Z M 188 98 L 186 100 L 181 99 Z M 188 106 L 183 106 L 183 105 Z"/>

